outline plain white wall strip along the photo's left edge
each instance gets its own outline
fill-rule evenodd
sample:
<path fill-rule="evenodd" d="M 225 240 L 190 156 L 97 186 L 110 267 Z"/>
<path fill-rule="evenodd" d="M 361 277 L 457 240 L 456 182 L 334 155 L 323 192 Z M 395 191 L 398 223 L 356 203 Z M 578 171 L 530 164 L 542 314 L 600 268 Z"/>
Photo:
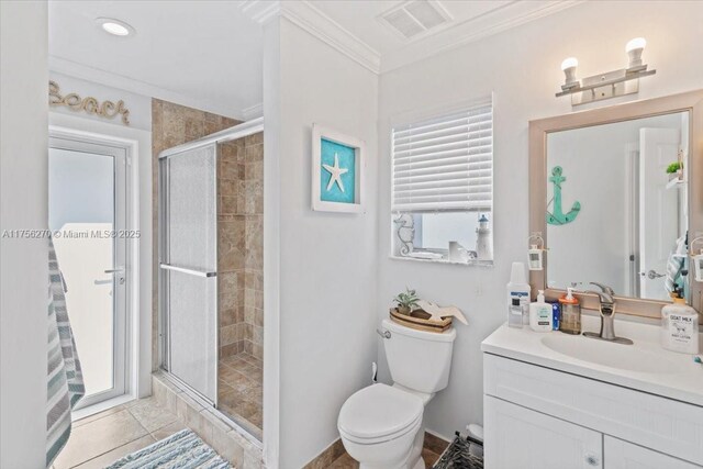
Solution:
<path fill-rule="evenodd" d="M 0 233 L 47 228 L 47 7 L 0 2 Z M 46 458 L 48 245 L 0 241 L 0 467 Z"/>

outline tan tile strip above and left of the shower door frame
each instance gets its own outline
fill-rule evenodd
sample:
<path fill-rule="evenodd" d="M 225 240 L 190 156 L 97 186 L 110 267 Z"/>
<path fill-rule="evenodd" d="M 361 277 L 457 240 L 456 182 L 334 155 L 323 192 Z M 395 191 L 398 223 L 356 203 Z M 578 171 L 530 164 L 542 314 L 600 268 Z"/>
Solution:
<path fill-rule="evenodd" d="M 158 369 L 158 154 L 167 148 L 232 127 L 241 121 L 158 99 L 152 100 L 152 368 Z"/>

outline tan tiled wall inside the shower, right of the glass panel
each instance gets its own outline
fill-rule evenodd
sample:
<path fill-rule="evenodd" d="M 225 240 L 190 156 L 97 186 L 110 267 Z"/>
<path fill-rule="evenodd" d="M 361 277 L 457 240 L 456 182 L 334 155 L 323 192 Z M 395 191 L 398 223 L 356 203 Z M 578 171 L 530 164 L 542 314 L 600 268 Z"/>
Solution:
<path fill-rule="evenodd" d="M 263 358 L 263 134 L 221 144 L 217 165 L 220 356 Z"/>

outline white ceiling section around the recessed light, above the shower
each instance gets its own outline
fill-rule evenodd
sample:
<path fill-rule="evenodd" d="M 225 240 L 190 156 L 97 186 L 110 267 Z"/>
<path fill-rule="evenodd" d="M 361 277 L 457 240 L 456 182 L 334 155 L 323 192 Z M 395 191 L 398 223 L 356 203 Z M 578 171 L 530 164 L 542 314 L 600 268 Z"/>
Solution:
<path fill-rule="evenodd" d="M 136 34 L 111 36 L 100 16 Z M 49 2 L 55 71 L 103 83 L 109 74 L 105 85 L 232 118 L 261 102 L 261 26 L 235 1 Z"/>

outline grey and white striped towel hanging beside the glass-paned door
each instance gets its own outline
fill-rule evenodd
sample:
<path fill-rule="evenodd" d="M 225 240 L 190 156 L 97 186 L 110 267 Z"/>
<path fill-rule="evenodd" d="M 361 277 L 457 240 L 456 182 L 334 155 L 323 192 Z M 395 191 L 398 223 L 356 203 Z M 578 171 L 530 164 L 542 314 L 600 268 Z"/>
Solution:
<path fill-rule="evenodd" d="M 74 333 L 66 310 L 66 288 L 54 243 L 48 241 L 48 369 L 46 402 L 46 467 L 70 436 L 70 412 L 86 393 Z"/>

